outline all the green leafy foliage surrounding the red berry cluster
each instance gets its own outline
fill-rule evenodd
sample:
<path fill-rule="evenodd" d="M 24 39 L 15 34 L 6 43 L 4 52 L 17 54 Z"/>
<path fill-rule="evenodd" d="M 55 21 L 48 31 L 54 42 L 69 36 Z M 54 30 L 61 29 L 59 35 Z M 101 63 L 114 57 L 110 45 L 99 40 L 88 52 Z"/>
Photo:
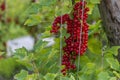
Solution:
<path fill-rule="evenodd" d="M 76 2 L 79 0 L 75 0 Z M 14 4 L 11 0 L 8 0 L 8 6 L 17 6 L 21 1 L 15 0 Z M 71 0 L 38 0 L 37 3 L 28 3 L 29 0 L 24 0 L 24 4 L 11 9 L 9 14 L 14 19 L 20 18 L 21 23 L 25 21 L 26 28 L 35 30 L 32 35 L 38 35 L 41 33 L 40 39 L 34 45 L 32 51 L 27 51 L 25 48 L 17 49 L 14 53 L 14 58 L 0 59 L 0 75 L 5 77 L 11 77 L 16 66 L 24 66 L 15 76 L 15 80 L 117 80 L 120 79 L 120 64 L 115 56 L 118 54 L 120 46 L 114 46 L 109 48 L 104 44 L 106 41 L 106 35 L 101 27 L 100 14 L 97 4 L 100 0 L 87 0 L 87 6 L 89 11 L 89 41 L 88 50 L 85 55 L 80 56 L 80 61 L 77 60 L 80 66 L 79 71 L 73 71 L 63 76 L 60 72 L 63 66 L 60 66 L 60 35 L 53 36 L 50 34 L 51 24 L 56 16 L 60 16 L 65 13 L 71 14 L 72 2 Z M 28 7 L 29 5 L 29 7 Z M 23 8 L 26 9 L 23 11 Z M 16 13 L 14 13 L 16 12 Z M 22 13 L 23 14 L 22 14 Z M 8 16 L 8 17 L 10 17 Z M 23 18 L 23 19 L 22 19 Z M 5 25 L 0 23 L 0 49 L 5 50 L 3 42 L 9 39 L 14 39 L 19 36 L 28 35 L 28 32 L 20 24 L 14 22 Z M 65 27 L 65 25 L 63 25 Z M 6 34 L 7 32 L 7 34 Z M 69 36 L 66 33 L 65 28 L 62 28 L 62 35 Z M 47 47 L 46 41 L 43 38 L 55 37 L 55 44 Z M 62 40 L 63 40 L 62 37 Z M 65 43 L 62 44 L 63 46 Z M 105 47 L 105 49 L 104 49 Z M 104 50 L 103 50 L 104 49 Z M 0 51 L 1 52 L 1 51 Z M 0 55 L 3 55 L 1 52 Z"/>

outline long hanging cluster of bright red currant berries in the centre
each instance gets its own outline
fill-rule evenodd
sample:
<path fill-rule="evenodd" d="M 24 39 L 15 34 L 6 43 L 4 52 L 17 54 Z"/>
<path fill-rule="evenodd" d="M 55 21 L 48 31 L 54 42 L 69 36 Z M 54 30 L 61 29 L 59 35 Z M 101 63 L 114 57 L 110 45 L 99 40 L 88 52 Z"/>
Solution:
<path fill-rule="evenodd" d="M 67 33 L 70 34 L 68 38 L 65 36 L 66 46 L 63 47 L 62 65 L 65 66 L 61 70 L 63 75 L 68 70 L 75 70 L 74 61 L 78 55 L 83 55 L 87 48 L 88 42 L 88 24 L 86 22 L 89 8 L 86 7 L 86 2 L 78 2 L 74 5 L 73 18 L 69 14 L 56 17 L 52 24 L 51 33 L 57 34 L 61 24 L 67 24 Z"/>

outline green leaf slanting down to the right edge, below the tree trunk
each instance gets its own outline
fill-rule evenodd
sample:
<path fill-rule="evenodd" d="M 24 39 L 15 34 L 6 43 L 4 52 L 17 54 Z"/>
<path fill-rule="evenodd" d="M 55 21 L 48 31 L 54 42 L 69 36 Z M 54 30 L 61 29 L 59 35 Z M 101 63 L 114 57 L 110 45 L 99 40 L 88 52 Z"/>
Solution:
<path fill-rule="evenodd" d="M 117 71 L 120 70 L 119 62 L 116 59 L 114 59 L 114 58 L 107 58 L 106 60 L 107 60 L 107 62 L 109 63 L 109 65 L 110 65 L 110 67 L 112 69 L 117 70 Z"/>

